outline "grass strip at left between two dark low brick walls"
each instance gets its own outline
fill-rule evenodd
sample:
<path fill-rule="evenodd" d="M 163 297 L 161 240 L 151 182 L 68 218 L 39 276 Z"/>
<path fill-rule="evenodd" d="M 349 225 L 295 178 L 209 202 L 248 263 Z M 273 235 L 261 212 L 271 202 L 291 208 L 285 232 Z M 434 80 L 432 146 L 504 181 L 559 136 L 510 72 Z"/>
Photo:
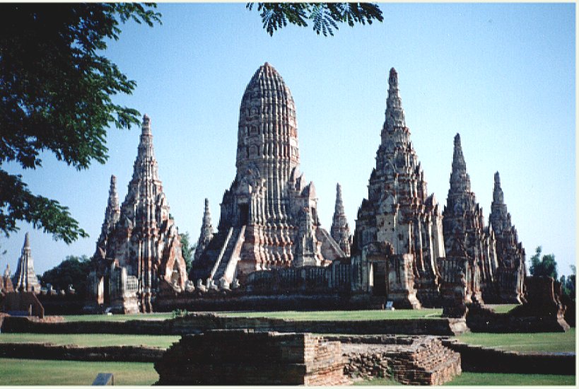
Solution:
<path fill-rule="evenodd" d="M 13 334 L 0 333 L 2 343 L 54 343 L 77 344 L 78 346 L 146 346 L 163 347 L 167 349 L 178 342 L 179 335 L 115 335 L 115 334 Z"/>

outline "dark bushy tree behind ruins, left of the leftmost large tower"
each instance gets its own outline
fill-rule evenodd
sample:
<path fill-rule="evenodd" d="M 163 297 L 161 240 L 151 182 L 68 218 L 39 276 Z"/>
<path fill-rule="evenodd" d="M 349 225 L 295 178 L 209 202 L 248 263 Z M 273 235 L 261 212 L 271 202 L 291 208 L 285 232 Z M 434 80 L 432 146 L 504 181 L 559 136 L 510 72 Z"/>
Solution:
<path fill-rule="evenodd" d="M 51 284 L 54 289 L 66 290 L 72 285 L 76 294 L 86 294 L 86 276 L 89 272 L 90 260 L 86 255 L 77 257 L 69 255 L 56 267 L 47 270 L 40 282 L 43 286 Z"/>

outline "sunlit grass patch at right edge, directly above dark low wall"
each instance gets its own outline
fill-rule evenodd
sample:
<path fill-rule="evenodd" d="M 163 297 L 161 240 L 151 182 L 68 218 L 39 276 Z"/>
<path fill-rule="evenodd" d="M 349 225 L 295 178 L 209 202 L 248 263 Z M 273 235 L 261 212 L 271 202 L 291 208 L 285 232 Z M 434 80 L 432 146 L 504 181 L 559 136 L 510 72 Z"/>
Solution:
<path fill-rule="evenodd" d="M 471 332 L 456 337 L 461 342 L 516 352 L 575 352 L 575 328 L 539 334 Z"/>

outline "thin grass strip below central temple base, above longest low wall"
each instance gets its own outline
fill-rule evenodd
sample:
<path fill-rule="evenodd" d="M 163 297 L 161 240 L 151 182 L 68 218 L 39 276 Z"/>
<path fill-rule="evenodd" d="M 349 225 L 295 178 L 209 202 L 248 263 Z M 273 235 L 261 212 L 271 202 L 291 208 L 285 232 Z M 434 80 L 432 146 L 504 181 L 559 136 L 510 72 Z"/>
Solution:
<path fill-rule="evenodd" d="M 404 310 L 286 310 L 277 312 L 221 312 L 218 315 L 236 318 L 276 318 L 293 320 L 377 320 L 440 318 L 442 309 Z"/>

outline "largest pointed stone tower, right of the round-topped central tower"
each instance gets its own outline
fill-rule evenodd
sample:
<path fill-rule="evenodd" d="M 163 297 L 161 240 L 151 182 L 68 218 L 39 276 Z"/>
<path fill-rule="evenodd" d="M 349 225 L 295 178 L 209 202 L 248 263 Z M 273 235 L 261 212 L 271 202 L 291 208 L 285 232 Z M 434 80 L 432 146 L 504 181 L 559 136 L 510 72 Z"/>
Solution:
<path fill-rule="evenodd" d="M 386 296 L 398 307 L 433 306 L 439 298 L 436 263 L 445 255 L 442 216 L 426 191 L 394 68 L 388 84 L 376 168 L 356 220 L 352 289 Z"/>

